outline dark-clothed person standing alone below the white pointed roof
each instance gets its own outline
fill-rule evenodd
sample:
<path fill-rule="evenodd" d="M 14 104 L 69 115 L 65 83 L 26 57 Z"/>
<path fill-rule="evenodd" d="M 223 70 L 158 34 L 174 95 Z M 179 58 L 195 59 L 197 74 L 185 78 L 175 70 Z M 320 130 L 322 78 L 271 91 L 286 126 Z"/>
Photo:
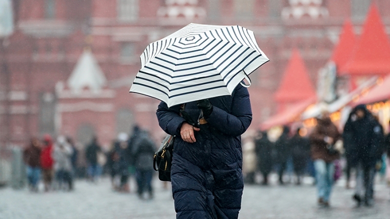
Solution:
<path fill-rule="evenodd" d="M 94 136 L 91 143 L 85 149 L 85 158 L 87 160 L 88 180 L 95 182 L 100 176 L 101 167 L 98 164 L 98 153 L 101 148 L 98 145 L 98 137 Z"/>

